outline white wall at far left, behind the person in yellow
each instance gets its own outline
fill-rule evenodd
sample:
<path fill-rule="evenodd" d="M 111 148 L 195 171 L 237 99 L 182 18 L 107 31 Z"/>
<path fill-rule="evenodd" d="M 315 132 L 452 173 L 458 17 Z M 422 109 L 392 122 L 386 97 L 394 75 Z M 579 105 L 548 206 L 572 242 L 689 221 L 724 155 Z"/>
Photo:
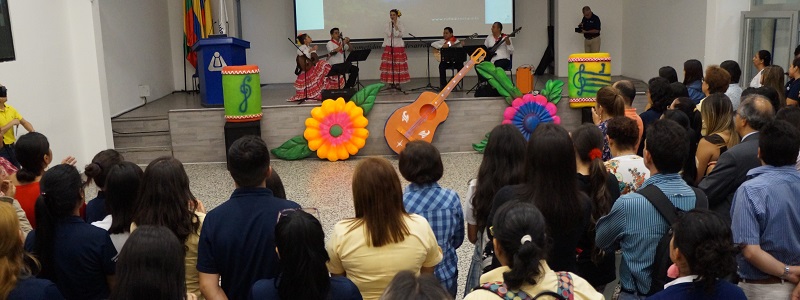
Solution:
<path fill-rule="evenodd" d="M 48 137 L 57 161 L 73 155 L 80 167 L 113 147 L 98 71 L 94 5 L 88 0 L 10 0 L 17 59 L 0 63 L 9 104 Z"/>

